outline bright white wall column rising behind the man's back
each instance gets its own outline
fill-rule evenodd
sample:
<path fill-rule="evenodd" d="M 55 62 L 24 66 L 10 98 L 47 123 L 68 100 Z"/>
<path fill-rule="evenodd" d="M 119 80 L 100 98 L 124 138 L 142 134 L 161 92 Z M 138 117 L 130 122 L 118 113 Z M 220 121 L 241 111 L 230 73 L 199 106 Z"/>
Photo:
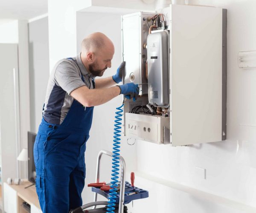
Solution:
<path fill-rule="evenodd" d="M 61 58 L 76 55 L 76 11 L 90 5 L 90 0 L 48 1 L 50 72 Z"/>

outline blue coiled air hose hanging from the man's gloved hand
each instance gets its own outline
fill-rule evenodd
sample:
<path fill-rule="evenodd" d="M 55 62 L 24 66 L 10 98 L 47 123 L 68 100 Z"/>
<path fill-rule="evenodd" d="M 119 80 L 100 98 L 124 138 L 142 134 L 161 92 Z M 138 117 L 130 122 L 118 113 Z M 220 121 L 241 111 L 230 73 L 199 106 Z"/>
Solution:
<path fill-rule="evenodd" d="M 119 163 L 120 163 L 120 161 L 119 161 L 119 152 L 120 152 L 120 146 L 119 146 L 119 144 L 120 144 L 120 132 L 121 132 L 121 125 L 122 125 L 122 123 L 120 122 L 120 121 L 122 121 L 122 112 L 123 112 L 123 110 L 122 110 L 122 107 L 124 106 L 124 104 L 122 104 L 122 106 L 121 107 L 117 107 L 116 109 L 117 109 L 117 111 L 116 111 L 116 116 L 115 116 L 115 118 L 116 118 L 116 120 L 115 120 L 115 128 L 114 128 L 114 143 L 113 143 L 113 155 L 112 155 L 112 160 L 113 160 L 113 162 L 112 162 L 112 164 L 113 164 L 113 166 L 112 166 L 112 168 L 113 168 L 113 170 L 112 170 L 112 177 L 111 177 L 111 190 L 109 190 L 110 191 L 110 193 L 109 193 L 109 195 L 110 195 L 110 197 L 109 197 L 109 200 L 108 200 L 108 208 L 107 208 L 107 212 L 108 213 L 114 213 L 114 210 L 115 210 L 115 205 L 116 205 L 116 194 L 117 194 L 117 182 L 118 182 L 118 175 L 119 175 Z"/>

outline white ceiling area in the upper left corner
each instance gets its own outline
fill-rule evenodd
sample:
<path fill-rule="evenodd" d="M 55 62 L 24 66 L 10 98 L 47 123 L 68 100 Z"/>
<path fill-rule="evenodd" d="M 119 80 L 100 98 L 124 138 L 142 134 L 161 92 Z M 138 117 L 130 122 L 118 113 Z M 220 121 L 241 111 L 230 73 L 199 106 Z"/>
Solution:
<path fill-rule="evenodd" d="M 47 0 L 0 0 L 0 19 L 31 19 L 46 14 Z"/>

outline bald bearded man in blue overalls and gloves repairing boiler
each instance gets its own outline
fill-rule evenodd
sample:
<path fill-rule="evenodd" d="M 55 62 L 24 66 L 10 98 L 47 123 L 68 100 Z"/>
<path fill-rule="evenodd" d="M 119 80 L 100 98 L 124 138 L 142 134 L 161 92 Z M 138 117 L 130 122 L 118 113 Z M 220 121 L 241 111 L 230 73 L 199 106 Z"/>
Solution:
<path fill-rule="evenodd" d="M 82 205 L 93 107 L 119 94 L 137 98 L 138 85 L 113 86 L 122 81 L 125 62 L 116 75 L 94 80 L 111 67 L 113 55 L 111 40 L 96 32 L 84 38 L 79 55 L 53 68 L 34 145 L 36 190 L 44 213 L 68 213 Z"/>

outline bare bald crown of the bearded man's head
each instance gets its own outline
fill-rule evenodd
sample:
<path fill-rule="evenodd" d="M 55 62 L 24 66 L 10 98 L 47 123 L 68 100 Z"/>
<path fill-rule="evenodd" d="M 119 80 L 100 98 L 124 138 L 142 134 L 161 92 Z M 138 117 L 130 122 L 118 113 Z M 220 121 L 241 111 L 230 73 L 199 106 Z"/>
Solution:
<path fill-rule="evenodd" d="M 114 49 L 112 41 L 101 32 L 95 32 L 85 37 L 81 46 L 82 52 L 93 52 L 94 54 L 101 51 L 103 48 L 109 50 Z"/>

